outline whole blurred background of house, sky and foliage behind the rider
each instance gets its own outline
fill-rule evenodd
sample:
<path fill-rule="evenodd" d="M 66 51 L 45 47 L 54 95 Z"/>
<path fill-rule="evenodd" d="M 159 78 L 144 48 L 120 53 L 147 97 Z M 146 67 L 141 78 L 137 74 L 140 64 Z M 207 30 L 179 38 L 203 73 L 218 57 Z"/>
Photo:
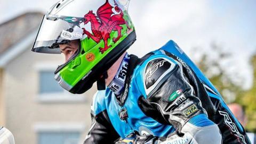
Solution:
<path fill-rule="evenodd" d="M 82 143 L 91 124 L 95 86 L 65 92 L 53 78 L 63 57 L 30 51 L 56 2 L 0 0 L 0 125 L 18 144 Z M 142 57 L 173 39 L 256 132 L 256 1 L 132 0 L 129 13 L 137 32 L 129 53 Z"/>

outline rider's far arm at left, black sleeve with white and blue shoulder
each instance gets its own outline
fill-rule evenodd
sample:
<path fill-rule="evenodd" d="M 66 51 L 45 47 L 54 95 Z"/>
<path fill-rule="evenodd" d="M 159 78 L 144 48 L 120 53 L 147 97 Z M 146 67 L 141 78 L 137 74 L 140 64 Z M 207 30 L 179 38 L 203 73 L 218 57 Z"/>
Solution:
<path fill-rule="evenodd" d="M 89 133 L 86 135 L 84 144 L 89 143 L 114 143 L 119 135 L 111 125 L 106 109 L 101 100 L 102 93 L 97 92 L 91 106 L 92 124 Z"/>

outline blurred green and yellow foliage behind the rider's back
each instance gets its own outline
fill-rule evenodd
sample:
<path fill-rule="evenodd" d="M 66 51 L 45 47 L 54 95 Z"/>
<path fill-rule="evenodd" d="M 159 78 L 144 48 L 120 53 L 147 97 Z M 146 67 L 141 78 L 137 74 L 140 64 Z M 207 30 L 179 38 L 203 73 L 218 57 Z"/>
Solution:
<path fill-rule="evenodd" d="M 197 62 L 197 66 L 210 79 L 226 102 L 236 102 L 245 108 L 248 119 L 245 128 L 256 132 L 256 54 L 251 58 L 253 85 L 250 90 L 243 90 L 241 85 L 232 81 L 233 79 L 226 72 L 227 69 L 221 66 L 221 62 L 230 58 L 231 55 L 216 44 L 211 45 L 211 50 L 215 57 L 211 58 L 209 53 L 204 53 Z"/>

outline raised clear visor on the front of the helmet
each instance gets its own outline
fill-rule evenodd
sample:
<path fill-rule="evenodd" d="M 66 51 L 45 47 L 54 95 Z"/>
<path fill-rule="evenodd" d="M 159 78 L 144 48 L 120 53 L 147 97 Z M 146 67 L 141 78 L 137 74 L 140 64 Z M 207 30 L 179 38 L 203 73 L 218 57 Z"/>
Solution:
<path fill-rule="evenodd" d="M 32 51 L 40 53 L 61 53 L 59 44 L 82 39 L 80 23 L 84 18 L 44 15 Z"/>

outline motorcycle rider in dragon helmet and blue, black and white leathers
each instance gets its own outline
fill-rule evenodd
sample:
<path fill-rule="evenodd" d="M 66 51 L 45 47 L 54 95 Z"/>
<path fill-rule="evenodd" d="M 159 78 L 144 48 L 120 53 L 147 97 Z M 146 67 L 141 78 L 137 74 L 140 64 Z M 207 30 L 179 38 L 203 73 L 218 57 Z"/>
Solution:
<path fill-rule="evenodd" d="M 250 143 L 219 92 L 173 41 L 138 58 L 129 1 L 61 0 L 32 51 L 63 53 L 55 79 L 71 93 L 97 82 L 85 143 Z"/>

